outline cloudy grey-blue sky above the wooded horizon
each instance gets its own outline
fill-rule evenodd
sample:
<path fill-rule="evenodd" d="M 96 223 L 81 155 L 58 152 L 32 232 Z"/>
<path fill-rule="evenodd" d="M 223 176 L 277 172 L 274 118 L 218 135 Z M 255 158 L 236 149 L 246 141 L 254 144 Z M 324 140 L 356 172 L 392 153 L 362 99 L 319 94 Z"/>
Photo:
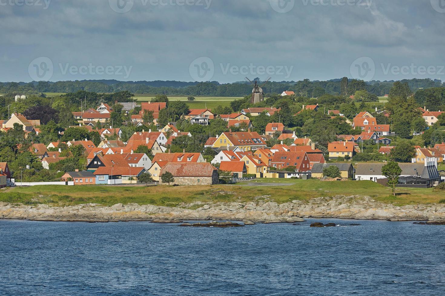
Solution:
<path fill-rule="evenodd" d="M 0 0 L 0 81 L 445 80 L 445 0 Z"/>

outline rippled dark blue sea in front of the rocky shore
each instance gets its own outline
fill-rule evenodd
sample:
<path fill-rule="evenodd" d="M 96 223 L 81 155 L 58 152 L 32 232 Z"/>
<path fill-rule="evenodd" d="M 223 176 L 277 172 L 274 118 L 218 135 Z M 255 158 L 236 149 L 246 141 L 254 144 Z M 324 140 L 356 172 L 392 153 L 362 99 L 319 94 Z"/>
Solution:
<path fill-rule="evenodd" d="M 445 226 L 412 222 L 0 220 L 0 295 L 445 295 L 444 253 Z"/>

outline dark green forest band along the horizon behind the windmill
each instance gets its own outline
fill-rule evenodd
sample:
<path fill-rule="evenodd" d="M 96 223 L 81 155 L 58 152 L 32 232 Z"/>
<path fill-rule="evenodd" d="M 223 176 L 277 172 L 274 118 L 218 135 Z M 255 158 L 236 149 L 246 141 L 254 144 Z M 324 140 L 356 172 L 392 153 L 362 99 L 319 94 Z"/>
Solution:
<path fill-rule="evenodd" d="M 345 80 L 346 79 L 346 80 Z M 255 80 L 260 81 L 259 78 Z M 395 81 L 364 82 L 356 79 L 332 79 L 328 81 L 310 81 L 304 79 L 298 82 L 281 81 L 268 82 L 263 87 L 266 94 L 295 91 L 299 96 L 318 98 L 321 95 L 354 95 L 356 91 L 366 90 L 376 96 L 389 94 Z M 440 80 L 432 79 L 404 79 L 401 83 L 408 83 L 411 91 L 432 87 L 443 87 Z M 261 83 L 261 82 L 260 82 Z M 343 87 L 342 87 L 343 84 Z M 194 96 L 221 96 L 242 97 L 252 91 L 250 83 L 235 82 L 220 84 L 213 82 L 179 82 L 179 81 L 117 81 L 117 80 L 76 80 L 58 82 L 31 82 L 0 83 L 0 93 L 3 94 L 39 94 L 42 92 L 73 93 L 89 91 L 97 93 L 113 93 L 129 91 L 134 94 L 167 94 L 167 95 L 194 95 Z"/>

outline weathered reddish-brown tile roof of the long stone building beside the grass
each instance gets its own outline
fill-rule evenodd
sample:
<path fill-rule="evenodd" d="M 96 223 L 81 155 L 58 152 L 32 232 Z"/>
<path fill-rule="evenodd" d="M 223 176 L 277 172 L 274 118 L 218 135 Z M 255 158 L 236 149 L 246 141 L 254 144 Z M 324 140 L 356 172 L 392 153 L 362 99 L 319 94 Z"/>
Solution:
<path fill-rule="evenodd" d="M 218 169 L 208 162 L 167 163 L 161 170 L 162 174 L 170 172 L 174 177 L 211 177 Z"/>

